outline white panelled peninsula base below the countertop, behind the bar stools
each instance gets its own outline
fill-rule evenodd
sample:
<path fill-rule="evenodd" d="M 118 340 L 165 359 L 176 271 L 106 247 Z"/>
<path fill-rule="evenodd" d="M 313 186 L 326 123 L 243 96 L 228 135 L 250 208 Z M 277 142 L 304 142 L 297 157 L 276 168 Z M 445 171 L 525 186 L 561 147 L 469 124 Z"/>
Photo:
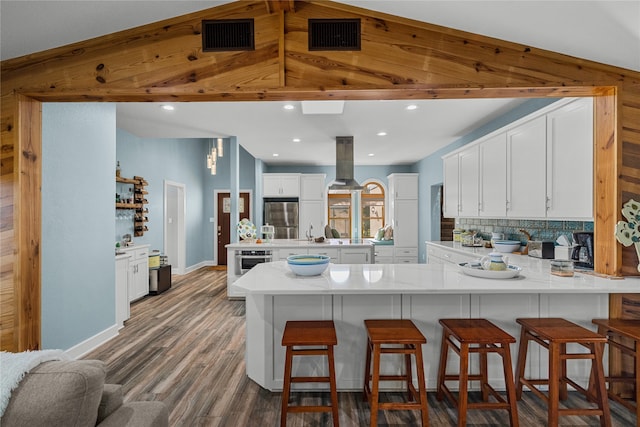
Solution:
<path fill-rule="evenodd" d="M 486 318 L 514 337 L 519 337 L 518 317 L 564 317 L 591 327 L 593 317 L 608 316 L 608 294 L 315 294 L 266 295 L 252 293 L 246 298 L 247 375 L 260 386 L 280 391 L 283 386 L 285 350 L 280 345 L 288 320 L 333 320 L 338 337 L 335 347 L 337 387 L 340 391 L 361 390 L 364 384 L 366 351 L 365 319 L 411 319 L 427 338 L 423 346 L 427 389 L 435 390 L 440 357 L 441 318 Z M 517 343 L 512 353 L 517 351 Z M 581 351 L 579 348 L 571 351 Z M 477 355 L 475 355 L 477 356 Z M 450 354 L 450 364 L 457 359 Z M 294 369 L 297 375 L 326 375 L 321 359 L 305 358 Z M 489 381 L 504 390 L 501 360 L 489 358 Z M 515 357 L 513 368 L 515 370 Z M 477 366 L 471 360 L 471 366 Z M 381 361 L 387 373 L 400 373 L 401 360 Z M 527 375 L 544 377 L 548 357 L 532 348 L 527 356 Z M 606 361 L 605 361 L 606 366 Z M 588 383 L 590 363 L 575 361 L 568 366 L 578 384 Z M 305 385 L 304 389 L 325 388 Z M 385 384 L 386 390 L 399 390 L 402 383 Z M 453 388 L 453 387 L 452 387 Z M 299 389 L 302 389 L 299 388 Z M 453 388 L 455 390 L 455 388 Z"/>

